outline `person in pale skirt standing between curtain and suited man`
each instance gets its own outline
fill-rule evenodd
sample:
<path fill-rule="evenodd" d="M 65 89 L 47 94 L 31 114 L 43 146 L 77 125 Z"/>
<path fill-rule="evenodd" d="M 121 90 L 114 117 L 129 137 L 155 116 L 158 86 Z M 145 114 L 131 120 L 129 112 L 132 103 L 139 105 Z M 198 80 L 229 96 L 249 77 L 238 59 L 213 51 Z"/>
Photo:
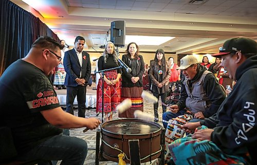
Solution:
<path fill-rule="evenodd" d="M 56 88 L 58 88 L 58 89 L 66 89 L 66 87 L 64 85 L 66 72 L 65 72 L 64 66 L 63 66 L 63 58 L 64 58 L 64 53 L 66 51 L 68 51 L 68 48 L 65 47 L 65 41 L 64 40 L 61 40 L 60 44 L 63 46 L 63 49 L 61 50 L 62 60 L 61 60 L 61 63 L 54 69 L 53 85 L 55 85 Z"/>

